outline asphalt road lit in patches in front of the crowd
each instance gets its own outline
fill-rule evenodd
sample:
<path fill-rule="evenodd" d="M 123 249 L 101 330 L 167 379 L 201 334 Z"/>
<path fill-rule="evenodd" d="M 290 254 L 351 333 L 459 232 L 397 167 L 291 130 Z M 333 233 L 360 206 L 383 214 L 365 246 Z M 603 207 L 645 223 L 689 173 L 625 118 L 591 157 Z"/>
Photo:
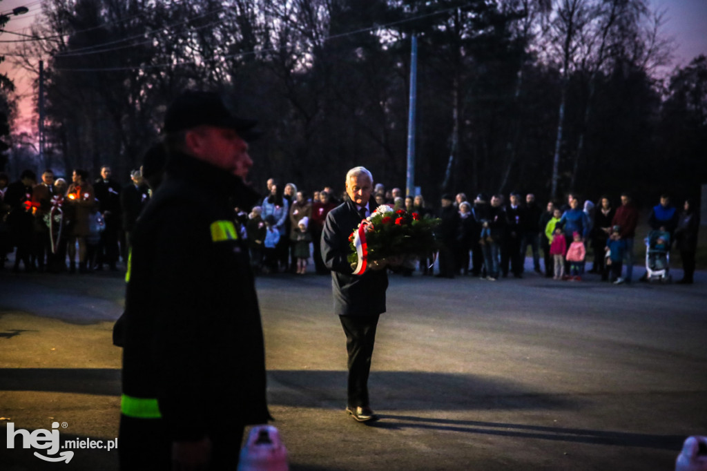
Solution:
<path fill-rule="evenodd" d="M 672 470 L 684 438 L 707 434 L 706 275 L 692 286 L 392 276 L 373 425 L 344 412 L 329 278 L 261 277 L 269 402 L 291 470 Z M 119 274 L 0 272 L 2 427 L 117 436 L 110 335 L 123 293 Z M 45 463 L 0 446 L 2 470 L 57 467 L 115 470 L 117 453 Z"/>

